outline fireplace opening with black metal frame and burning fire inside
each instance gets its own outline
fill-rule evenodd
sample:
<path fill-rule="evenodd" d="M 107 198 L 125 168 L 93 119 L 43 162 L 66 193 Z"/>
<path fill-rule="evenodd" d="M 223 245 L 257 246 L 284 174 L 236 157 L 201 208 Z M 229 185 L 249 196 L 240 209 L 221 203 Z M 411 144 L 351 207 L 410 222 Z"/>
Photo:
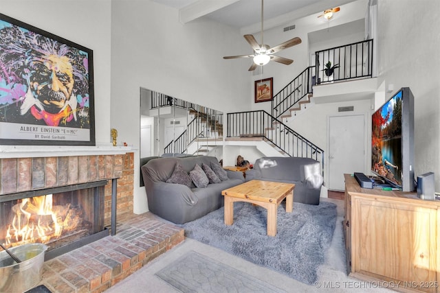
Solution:
<path fill-rule="evenodd" d="M 48 246 L 45 259 L 109 235 L 104 228 L 107 180 L 0 196 L 0 242 Z"/>

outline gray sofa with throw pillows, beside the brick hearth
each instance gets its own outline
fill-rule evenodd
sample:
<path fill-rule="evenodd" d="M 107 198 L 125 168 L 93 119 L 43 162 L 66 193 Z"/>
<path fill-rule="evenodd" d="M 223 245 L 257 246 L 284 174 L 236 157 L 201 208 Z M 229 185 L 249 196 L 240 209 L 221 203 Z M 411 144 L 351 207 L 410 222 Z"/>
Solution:
<path fill-rule="evenodd" d="M 142 165 L 142 177 L 148 209 L 151 213 L 175 224 L 184 224 L 222 207 L 221 191 L 244 182 L 243 173 L 221 168 L 222 174 L 218 176 L 218 179 L 223 180 L 217 180 L 218 183 L 210 181 L 206 187 L 196 187 L 194 182 L 188 183 L 185 174 L 188 175 L 190 172 L 200 174 L 200 169 L 196 168 L 196 164 L 202 167 L 202 163 L 203 167 L 209 166 L 212 171 L 221 168 L 214 156 L 157 158 Z M 177 165 L 181 166 L 181 169 Z M 208 173 L 212 174 L 206 172 Z M 217 172 L 214 173 L 217 174 Z M 181 176 L 176 176 L 176 174 Z"/>

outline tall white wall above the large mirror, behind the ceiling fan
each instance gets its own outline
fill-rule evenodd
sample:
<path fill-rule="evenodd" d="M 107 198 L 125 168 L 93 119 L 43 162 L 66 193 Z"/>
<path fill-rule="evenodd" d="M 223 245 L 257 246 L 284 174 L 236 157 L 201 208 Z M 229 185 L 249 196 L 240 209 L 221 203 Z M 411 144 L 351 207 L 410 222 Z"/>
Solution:
<path fill-rule="evenodd" d="M 152 1 L 113 0 L 111 127 L 139 148 L 139 89 L 151 89 L 223 113 L 247 110 L 249 75 L 222 56 L 243 51 L 238 30 L 209 21 L 179 23 L 177 10 Z M 139 154 L 135 154 L 135 169 Z M 135 172 L 134 212 L 147 211 Z"/>

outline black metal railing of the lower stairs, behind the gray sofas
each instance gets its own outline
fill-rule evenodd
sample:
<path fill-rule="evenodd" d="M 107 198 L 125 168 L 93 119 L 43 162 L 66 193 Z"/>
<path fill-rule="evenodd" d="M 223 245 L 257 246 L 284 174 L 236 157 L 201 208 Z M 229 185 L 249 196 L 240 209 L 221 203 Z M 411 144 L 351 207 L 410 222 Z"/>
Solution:
<path fill-rule="evenodd" d="M 262 137 L 288 156 L 319 161 L 324 176 L 324 150 L 265 110 L 228 113 L 227 123 L 227 137 Z"/>

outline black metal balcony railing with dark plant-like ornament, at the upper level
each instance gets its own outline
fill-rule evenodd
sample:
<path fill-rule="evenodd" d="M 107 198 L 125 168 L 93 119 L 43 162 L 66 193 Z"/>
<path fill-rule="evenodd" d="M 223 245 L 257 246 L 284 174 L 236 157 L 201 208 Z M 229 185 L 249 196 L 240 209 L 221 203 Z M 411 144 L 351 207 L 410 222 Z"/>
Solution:
<path fill-rule="evenodd" d="M 333 47 L 315 52 L 316 76 L 314 82 L 322 84 L 373 75 L 373 40 Z M 336 67 L 333 68 L 332 67 Z"/>

